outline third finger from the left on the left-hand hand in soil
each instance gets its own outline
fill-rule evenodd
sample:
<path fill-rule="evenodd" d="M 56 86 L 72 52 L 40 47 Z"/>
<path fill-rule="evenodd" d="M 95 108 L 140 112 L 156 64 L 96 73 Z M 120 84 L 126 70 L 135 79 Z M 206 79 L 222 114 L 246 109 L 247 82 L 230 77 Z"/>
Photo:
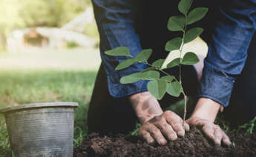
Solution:
<path fill-rule="evenodd" d="M 174 141 L 177 139 L 177 134 L 174 132 L 171 125 L 168 124 L 166 121 L 162 123 L 158 123 L 156 125 L 166 138 L 168 138 L 171 141 Z"/>

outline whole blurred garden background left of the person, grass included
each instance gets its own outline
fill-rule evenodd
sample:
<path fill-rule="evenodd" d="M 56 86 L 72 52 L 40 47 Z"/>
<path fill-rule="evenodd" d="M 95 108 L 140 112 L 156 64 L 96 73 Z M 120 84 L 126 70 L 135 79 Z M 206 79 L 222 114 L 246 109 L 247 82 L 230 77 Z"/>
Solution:
<path fill-rule="evenodd" d="M 75 146 L 100 64 L 91 0 L 0 1 L 0 109 L 33 102 L 76 101 Z M 0 156 L 10 156 L 0 116 Z"/>

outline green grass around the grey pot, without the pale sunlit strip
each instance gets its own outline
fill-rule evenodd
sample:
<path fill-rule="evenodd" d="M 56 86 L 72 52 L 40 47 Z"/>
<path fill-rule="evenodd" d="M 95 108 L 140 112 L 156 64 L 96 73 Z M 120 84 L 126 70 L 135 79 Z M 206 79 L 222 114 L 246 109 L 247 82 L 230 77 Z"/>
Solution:
<path fill-rule="evenodd" d="M 0 108 L 49 101 L 75 101 L 74 144 L 86 136 L 86 116 L 96 71 L 1 70 Z M 10 150 L 4 117 L 0 117 L 0 156 Z"/>

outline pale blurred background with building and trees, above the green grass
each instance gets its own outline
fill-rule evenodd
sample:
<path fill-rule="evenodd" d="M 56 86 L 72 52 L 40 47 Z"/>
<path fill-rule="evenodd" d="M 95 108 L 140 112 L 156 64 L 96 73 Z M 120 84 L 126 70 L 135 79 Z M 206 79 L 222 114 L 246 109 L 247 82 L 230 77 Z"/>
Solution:
<path fill-rule="evenodd" d="M 88 58 L 98 57 L 99 44 L 90 0 L 1 0 L 0 8 L 1 68 L 88 70 L 99 63 Z"/>

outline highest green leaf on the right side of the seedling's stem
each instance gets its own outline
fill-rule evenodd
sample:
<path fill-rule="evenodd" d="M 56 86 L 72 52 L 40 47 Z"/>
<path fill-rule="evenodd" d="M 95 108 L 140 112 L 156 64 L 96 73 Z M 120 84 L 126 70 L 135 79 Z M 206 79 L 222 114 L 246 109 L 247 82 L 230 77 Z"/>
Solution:
<path fill-rule="evenodd" d="M 199 21 L 204 16 L 206 16 L 207 12 L 208 12 L 207 7 L 197 7 L 197 8 L 195 8 L 190 13 L 188 13 L 188 19 L 186 21 L 186 24 L 193 24 L 194 22 Z"/>

